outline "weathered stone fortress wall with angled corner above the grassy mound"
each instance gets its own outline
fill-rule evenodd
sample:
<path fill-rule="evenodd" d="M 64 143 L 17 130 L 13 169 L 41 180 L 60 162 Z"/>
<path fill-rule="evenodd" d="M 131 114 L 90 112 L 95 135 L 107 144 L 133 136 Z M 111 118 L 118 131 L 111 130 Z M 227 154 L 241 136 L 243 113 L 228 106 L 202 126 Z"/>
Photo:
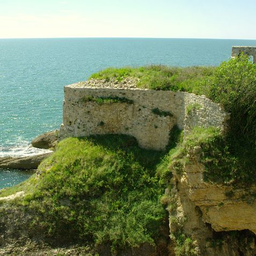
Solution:
<path fill-rule="evenodd" d="M 106 88 L 79 83 L 65 86 L 64 94 L 61 138 L 119 133 L 134 136 L 141 147 L 163 150 L 174 125 L 187 134 L 197 125 L 224 129 L 228 118 L 218 104 L 205 96 L 184 92 Z M 88 96 L 116 96 L 133 103 L 99 104 L 86 101 Z"/>

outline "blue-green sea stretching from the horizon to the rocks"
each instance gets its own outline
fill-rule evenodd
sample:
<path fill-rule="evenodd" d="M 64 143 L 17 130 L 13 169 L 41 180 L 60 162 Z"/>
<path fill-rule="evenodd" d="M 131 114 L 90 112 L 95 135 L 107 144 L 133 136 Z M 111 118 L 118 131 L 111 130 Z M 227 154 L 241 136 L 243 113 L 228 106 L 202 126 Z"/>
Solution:
<path fill-rule="evenodd" d="M 0 157 L 40 153 L 30 141 L 61 125 L 65 85 L 109 66 L 219 65 L 231 46 L 256 40 L 0 39 Z M 0 170 L 0 189 L 28 176 Z"/>

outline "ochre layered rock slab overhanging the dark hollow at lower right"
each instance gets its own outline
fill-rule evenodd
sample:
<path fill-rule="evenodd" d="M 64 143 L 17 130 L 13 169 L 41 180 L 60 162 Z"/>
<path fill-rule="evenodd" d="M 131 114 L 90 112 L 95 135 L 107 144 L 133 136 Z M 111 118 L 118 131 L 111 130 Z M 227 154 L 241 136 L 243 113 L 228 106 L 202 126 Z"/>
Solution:
<path fill-rule="evenodd" d="M 180 184 L 200 207 L 204 222 L 215 231 L 249 229 L 256 234 L 256 201 L 248 203 L 256 186 L 245 190 L 204 182 L 204 166 L 198 162 L 185 166 L 184 171 Z"/>

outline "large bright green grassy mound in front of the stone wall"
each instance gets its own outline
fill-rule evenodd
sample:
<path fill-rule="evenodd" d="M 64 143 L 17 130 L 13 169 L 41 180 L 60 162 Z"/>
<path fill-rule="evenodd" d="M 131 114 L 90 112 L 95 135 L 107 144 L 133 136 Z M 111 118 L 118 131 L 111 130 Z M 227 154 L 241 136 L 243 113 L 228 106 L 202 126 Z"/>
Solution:
<path fill-rule="evenodd" d="M 157 244 L 167 220 L 156 165 L 163 152 L 141 149 L 133 137 L 68 138 L 44 160 L 34 190 L 19 205 L 37 230 L 62 243 L 111 244 L 112 251 Z M 10 189 L 11 193 L 13 189 Z"/>

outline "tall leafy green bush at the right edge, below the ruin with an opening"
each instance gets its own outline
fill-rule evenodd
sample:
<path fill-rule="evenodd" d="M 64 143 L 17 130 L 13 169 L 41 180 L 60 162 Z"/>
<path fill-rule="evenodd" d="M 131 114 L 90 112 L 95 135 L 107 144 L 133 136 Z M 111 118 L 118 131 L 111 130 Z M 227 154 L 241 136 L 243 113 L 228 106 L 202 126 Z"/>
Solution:
<path fill-rule="evenodd" d="M 230 134 L 256 142 L 256 65 L 245 55 L 216 68 L 209 98 L 230 112 Z"/>

